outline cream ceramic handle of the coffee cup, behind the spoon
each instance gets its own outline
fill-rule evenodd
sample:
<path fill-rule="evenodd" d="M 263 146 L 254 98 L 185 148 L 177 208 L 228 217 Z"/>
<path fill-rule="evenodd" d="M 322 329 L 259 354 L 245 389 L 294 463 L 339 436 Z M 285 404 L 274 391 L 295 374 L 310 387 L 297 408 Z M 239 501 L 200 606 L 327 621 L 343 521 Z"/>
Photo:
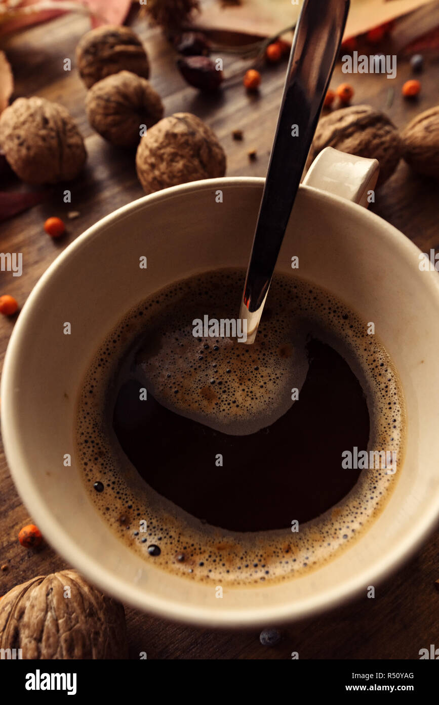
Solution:
<path fill-rule="evenodd" d="M 312 162 L 303 185 L 333 193 L 367 208 L 378 173 L 376 159 L 355 157 L 354 154 L 325 147 Z"/>

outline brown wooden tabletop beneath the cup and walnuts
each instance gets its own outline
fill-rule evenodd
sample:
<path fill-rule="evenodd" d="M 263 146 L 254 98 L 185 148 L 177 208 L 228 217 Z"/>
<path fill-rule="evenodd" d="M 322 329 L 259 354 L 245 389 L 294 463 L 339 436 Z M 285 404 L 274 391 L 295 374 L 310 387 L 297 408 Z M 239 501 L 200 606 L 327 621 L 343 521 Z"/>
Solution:
<path fill-rule="evenodd" d="M 52 23 L 26 30 L 4 40 L 15 74 L 15 97 L 38 94 L 63 104 L 77 121 L 89 153 L 84 175 L 69 185 L 71 204 L 63 203 L 65 185 L 53 187 L 49 200 L 15 216 L 0 226 L 0 250 L 23 252 L 23 276 L 0 273 L 0 294 L 9 293 L 23 305 L 39 276 L 77 235 L 115 208 L 141 197 L 134 169 L 134 152 L 107 145 L 93 133 L 84 112 L 85 88 L 75 70 L 75 45 L 89 28 L 88 20 L 67 15 Z M 249 96 L 240 82 L 225 85 L 212 97 L 203 97 L 187 86 L 174 68 L 174 52 L 156 29 L 144 20 L 134 20 L 134 28 L 145 40 L 152 64 L 151 81 L 165 102 L 165 114 L 189 111 L 207 121 L 224 145 L 229 176 L 265 176 L 269 149 L 284 83 L 285 64 L 267 68 L 258 96 Z M 367 54 L 374 53 L 368 47 Z M 385 53 L 388 53 L 386 49 Z M 390 52 L 391 53 L 391 52 Z M 63 71 L 63 59 L 72 59 L 72 71 Z M 224 55 L 224 68 L 233 63 Z M 398 127 L 420 111 L 439 103 L 439 64 L 430 60 L 421 76 L 419 100 L 402 99 L 402 83 L 411 77 L 407 60 L 397 66 L 397 78 L 381 75 L 352 75 L 355 104 L 371 104 L 386 109 Z M 345 81 L 338 64 L 332 86 Z M 393 104 L 386 107 L 389 87 L 395 88 Z M 244 132 L 243 142 L 231 137 L 232 130 Z M 257 149 L 256 161 L 248 151 Z M 9 178 L 0 189 L 18 190 L 18 180 Z M 438 184 L 415 176 L 403 162 L 393 178 L 376 194 L 372 209 L 419 245 L 423 252 L 439 247 Z M 80 216 L 68 221 L 68 234 L 59 243 L 43 231 L 51 215 L 66 218 L 68 211 Z M 0 317 L 0 364 L 3 362 L 14 317 Z M 17 539 L 19 529 L 30 522 L 13 485 L 4 453 L 0 448 L 0 594 L 15 584 L 66 567 L 49 546 L 27 551 Z M 127 608 L 131 658 L 146 651 L 148 658 L 419 658 L 419 649 L 439 645 L 438 534 L 426 541 L 416 556 L 376 589 L 376 599 L 365 597 L 338 607 L 317 618 L 285 625 L 283 639 L 272 649 L 260 645 L 259 630 L 194 629 L 168 623 Z M 269 626 L 269 625 L 268 625 Z"/>

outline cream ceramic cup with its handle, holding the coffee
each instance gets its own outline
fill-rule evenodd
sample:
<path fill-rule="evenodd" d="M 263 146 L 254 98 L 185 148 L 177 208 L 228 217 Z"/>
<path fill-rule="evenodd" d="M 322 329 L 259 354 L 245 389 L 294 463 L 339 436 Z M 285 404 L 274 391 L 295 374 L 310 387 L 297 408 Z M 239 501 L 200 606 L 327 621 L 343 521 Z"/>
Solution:
<path fill-rule="evenodd" d="M 215 599 L 215 587 L 145 563 L 96 513 L 75 456 L 77 395 L 98 345 L 154 290 L 196 272 L 246 266 L 263 179 L 198 181 L 141 198 L 89 228 L 35 286 L 1 380 L 6 457 L 46 540 L 108 593 L 191 623 L 275 623 L 359 591 L 365 596 L 433 526 L 439 513 L 439 280 L 434 271 L 420 271 L 420 252 L 402 233 L 348 200 L 366 202 L 375 180 L 376 162 L 325 150 L 300 187 L 277 269 L 291 271 L 297 255 L 297 274 L 374 321 L 405 392 L 405 463 L 385 510 L 362 538 L 323 568 L 284 584 L 224 588 Z M 147 269 L 139 268 L 141 256 Z M 71 335 L 63 333 L 66 321 Z M 63 464 L 65 453 L 71 467 Z"/>

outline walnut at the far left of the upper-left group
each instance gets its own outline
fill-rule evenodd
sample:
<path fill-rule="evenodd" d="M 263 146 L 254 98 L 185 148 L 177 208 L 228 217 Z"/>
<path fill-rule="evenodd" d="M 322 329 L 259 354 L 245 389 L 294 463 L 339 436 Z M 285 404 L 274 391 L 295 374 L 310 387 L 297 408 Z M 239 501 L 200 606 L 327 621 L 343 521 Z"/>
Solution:
<path fill-rule="evenodd" d="M 68 111 L 44 98 L 18 98 L 0 116 L 0 149 L 23 181 L 58 183 L 75 178 L 87 159 Z"/>

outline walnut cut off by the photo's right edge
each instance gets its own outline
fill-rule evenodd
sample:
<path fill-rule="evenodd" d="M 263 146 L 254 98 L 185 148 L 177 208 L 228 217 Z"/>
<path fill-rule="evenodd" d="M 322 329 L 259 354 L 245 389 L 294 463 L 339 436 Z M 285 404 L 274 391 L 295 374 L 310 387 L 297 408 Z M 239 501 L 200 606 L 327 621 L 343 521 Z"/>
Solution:
<path fill-rule="evenodd" d="M 439 178 L 439 105 L 417 115 L 401 139 L 407 164 L 418 173 Z"/>

